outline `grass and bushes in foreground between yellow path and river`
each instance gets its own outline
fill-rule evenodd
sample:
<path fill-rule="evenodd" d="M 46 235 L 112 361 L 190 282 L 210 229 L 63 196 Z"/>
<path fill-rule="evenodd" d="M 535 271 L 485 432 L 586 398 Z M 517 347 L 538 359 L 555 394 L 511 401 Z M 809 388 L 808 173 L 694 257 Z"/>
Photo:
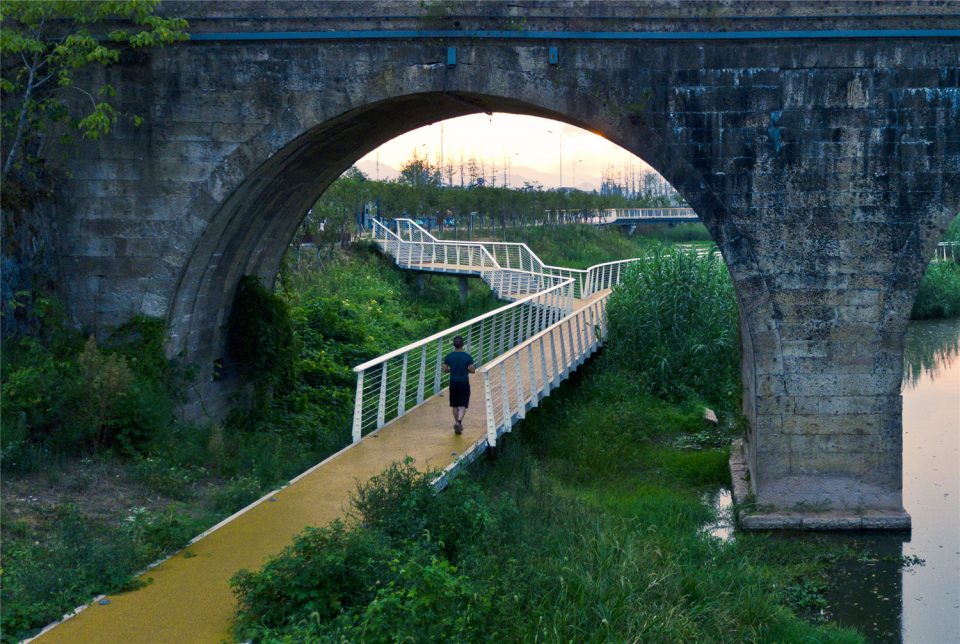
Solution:
<path fill-rule="evenodd" d="M 395 466 L 362 490 L 379 514 L 307 530 L 237 575 L 237 637 L 862 641 L 796 616 L 802 587 L 777 590 L 792 570 L 698 534 L 712 510 L 696 486 L 570 485 L 508 445 L 440 495 Z"/>

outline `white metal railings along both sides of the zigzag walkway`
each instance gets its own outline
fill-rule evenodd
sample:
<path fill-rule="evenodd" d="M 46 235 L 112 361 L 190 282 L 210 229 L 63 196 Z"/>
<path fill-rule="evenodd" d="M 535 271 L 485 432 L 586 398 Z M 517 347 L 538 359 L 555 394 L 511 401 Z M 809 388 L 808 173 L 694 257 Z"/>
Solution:
<path fill-rule="evenodd" d="M 399 266 L 479 275 L 498 297 L 514 301 L 355 367 L 354 441 L 446 387 L 443 356 L 461 335 L 483 374 L 488 441 L 495 445 L 498 432 L 509 431 L 515 418 L 596 350 L 606 328 L 603 292 L 641 261 L 549 266 L 526 244 L 442 241 L 411 220 L 396 225 L 395 233 L 374 221 L 372 238 Z M 574 312 L 575 298 L 597 293 L 603 294 Z"/>

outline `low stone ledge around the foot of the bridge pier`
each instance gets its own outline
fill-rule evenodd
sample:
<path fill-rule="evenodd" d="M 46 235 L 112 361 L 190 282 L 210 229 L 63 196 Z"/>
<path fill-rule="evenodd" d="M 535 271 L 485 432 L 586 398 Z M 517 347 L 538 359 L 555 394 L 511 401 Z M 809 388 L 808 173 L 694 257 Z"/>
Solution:
<path fill-rule="evenodd" d="M 730 477 L 737 525 L 742 530 L 909 530 L 910 515 L 891 509 L 798 509 L 784 510 L 758 505 L 743 457 L 742 441 L 730 449 Z M 829 482 L 828 482 L 829 483 Z"/>

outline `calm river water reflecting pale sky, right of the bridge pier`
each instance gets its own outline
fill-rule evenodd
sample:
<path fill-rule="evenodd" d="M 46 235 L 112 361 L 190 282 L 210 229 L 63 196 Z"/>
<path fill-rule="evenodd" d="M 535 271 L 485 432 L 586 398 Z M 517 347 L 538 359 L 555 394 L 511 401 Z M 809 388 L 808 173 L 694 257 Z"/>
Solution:
<path fill-rule="evenodd" d="M 913 530 L 849 537 L 879 556 L 837 571 L 830 618 L 872 642 L 960 642 L 960 320 L 912 323 L 904 363 Z"/>

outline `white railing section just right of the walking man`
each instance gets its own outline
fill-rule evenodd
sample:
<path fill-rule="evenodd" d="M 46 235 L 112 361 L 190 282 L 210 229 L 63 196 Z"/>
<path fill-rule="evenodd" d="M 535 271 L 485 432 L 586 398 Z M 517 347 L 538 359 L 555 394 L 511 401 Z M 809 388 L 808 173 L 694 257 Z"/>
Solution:
<path fill-rule="evenodd" d="M 607 328 L 608 297 L 604 294 L 478 369 L 488 445 L 495 447 L 503 432 L 511 431 L 528 409 L 599 348 Z"/>

